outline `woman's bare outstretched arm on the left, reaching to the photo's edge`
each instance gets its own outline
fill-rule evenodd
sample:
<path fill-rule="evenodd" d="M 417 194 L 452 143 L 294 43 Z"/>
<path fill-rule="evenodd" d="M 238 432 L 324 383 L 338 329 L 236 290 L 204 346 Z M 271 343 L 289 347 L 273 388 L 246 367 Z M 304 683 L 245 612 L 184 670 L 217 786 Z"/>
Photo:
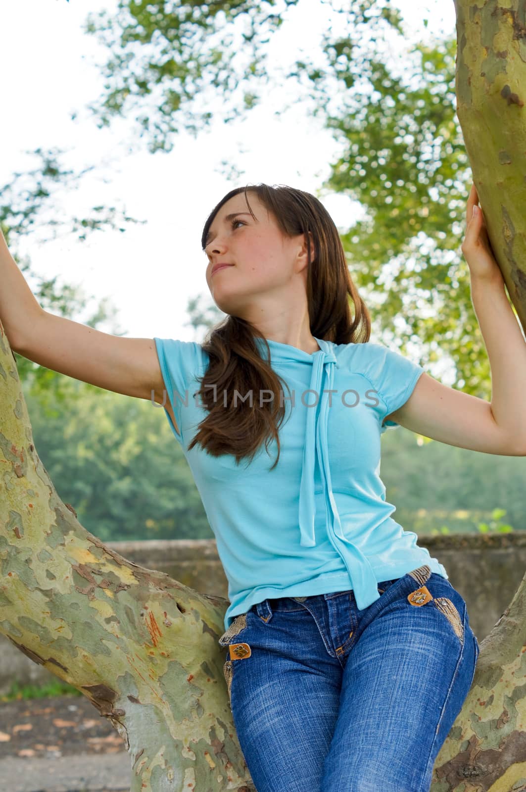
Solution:
<path fill-rule="evenodd" d="M 0 320 L 14 352 L 105 390 L 163 401 L 153 338 L 123 338 L 40 307 L 0 231 Z"/>

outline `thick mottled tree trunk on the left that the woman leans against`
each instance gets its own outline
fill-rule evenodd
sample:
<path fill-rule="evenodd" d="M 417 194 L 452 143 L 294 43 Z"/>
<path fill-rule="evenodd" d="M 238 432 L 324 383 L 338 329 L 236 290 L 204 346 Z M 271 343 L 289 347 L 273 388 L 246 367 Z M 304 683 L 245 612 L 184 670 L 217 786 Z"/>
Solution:
<path fill-rule="evenodd" d="M 218 643 L 227 601 L 127 561 L 63 504 L 1 323 L 0 383 L 0 632 L 109 718 L 131 792 L 250 792 Z"/>

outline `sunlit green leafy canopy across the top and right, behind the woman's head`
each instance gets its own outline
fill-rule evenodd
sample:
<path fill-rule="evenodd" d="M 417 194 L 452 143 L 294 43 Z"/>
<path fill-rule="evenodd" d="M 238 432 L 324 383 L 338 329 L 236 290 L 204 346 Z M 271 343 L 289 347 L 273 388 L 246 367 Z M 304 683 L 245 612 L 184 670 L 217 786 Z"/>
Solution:
<path fill-rule="evenodd" d="M 342 147 L 313 192 L 341 193 L 363 208 L 341 240 L 375 334 L 403 353 L 413 341 L 419 362 L 447 360 L 454 386 L 488 398 L 489 361 L 460 252 L 472 174 L 455 114 L 453 31 L 407 47 L 389 0 L 324 5 L 323 63 L 309 53 L 276 76 L 267 45 L 285 21 L 305 24 L 297 0 L 121 0 L 115 14 L 92 13 L 86 32 L 108 51 L 93 113 L 101 125 L 135 113 L 141 144 L 168 152 L 181 129 L 209 126 L 212 97 L 231 124 L 273 85 L 295 82 L 295 101 L 322 117 Z"/>

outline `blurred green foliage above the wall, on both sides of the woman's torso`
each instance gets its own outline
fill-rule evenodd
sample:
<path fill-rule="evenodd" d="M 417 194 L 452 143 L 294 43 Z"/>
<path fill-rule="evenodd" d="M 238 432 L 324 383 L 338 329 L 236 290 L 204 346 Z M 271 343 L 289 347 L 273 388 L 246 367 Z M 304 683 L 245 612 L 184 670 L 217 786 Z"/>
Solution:
<path fill-rule="evenodd" d="M 43 406 L 29 381 L 22 387 L 36 451 L 88 531 L 103 541 L 213 539 L 164 409 L 76 380 L 71 401 Z M 393 519 L 417 535 L 526 528 L 526 458 L 419 444 L 400 427 L 382 438 L 381 476 Z"/>

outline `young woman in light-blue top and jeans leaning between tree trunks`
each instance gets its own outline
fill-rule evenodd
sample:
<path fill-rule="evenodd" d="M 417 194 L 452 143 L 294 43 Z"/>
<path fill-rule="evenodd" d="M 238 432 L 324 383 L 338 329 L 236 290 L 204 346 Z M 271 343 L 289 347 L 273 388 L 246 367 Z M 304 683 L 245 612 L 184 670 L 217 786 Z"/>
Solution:
<path fill-rule="evenodd" d="M 524 340 L 477 203 L 473 189 L 463 252 L 498 377 L 491 405 L 368 341 L 337 229 L 307 192 L 255 185 L 214 208 L 206 279 L 228 315 L 202 345 L 48 314 L 0 250 L 16 352 L 166 409 L 227 575 L 219 643 L 257 792 L 428 792 L 470 690 L 466 604 L 392 518 L 379 463 L 380 435 L 397 425 L 526 453 L 513 390 L 526 384 Z"/>

